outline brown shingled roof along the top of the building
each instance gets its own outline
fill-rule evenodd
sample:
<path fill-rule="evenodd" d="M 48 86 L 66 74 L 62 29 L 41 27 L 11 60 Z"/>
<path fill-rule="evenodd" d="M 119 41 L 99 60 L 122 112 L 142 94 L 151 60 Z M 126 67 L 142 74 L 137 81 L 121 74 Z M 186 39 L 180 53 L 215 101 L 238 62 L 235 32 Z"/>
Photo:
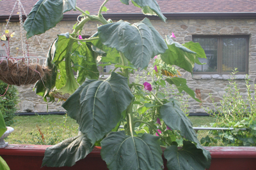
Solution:
<path fill-rule="evenodd" d="M 37 0 L 21 0 L 26 13 L 33 8 Z M 100 4 L 104 0 L 77 0 L 77 6 L 82 10 L 88 10 L 92 14 L 96 14 Z M 10 15 L 15 0 L 0 1 L 0 17 Z M 162 13 L 256 13 L 256 0 L 157 0 Z M 106 14 L 138 14 L 141 13 L 140 8 L 125 5 L 120 0 L 109 0 L 106 4 L 109 11 Z M 15 9 L 17 12 L 17 7 Z M 15 13 L 17 15 L 17 13 Z M 70 11 L 65 15 L 77 15 L 79 11 Z"/>

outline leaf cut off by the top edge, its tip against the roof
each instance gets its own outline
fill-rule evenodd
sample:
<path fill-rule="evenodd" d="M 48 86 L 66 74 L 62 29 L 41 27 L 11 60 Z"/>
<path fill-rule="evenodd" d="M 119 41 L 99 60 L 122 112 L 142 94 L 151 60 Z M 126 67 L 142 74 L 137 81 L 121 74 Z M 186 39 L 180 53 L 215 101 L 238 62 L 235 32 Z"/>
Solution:
<path fill-rule="evenodd" d="M 129 0 L 120 0 L 124 4 L 129 4 Z M 132 0 L 132 4 L 141 8 L 141 11 L 145 15 L 157 15 L 164 22 L 166 21 L 166 17 L 164 17 L 161 12 L 159 5 L 156 0 Z"/>

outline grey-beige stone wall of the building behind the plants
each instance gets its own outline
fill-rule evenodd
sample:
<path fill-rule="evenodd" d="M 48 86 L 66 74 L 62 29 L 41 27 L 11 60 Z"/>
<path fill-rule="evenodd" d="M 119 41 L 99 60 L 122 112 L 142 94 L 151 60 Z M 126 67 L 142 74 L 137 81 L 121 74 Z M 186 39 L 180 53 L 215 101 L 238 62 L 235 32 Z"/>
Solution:
<path fill-rule="evenodd" d="M 130 23 L 138 22 L 138 20 L 129 20 Z M 241 20 L 241 19 L 190 19 L 190 20 L 166 20 L 166 23 L 161 20 L 151 20 L 157 31 L 163 36 L 171 35 L 175 33 L 177 37 L 174 39 L 179 43 L 186 43 L 192 41 L 192 35 L 249 35 L 249 78 L 250 84 L 254 84 L 256 81 L 256 19 Z M 32 46 L 29 47 L 29 51 L 36 56 L 44 56 L 47 53 L 52 41 L 56 38 L 56 34 L 72 32 L 72 27 L 76 22 L 60 22 L 53 29 L 38 36 L 39 41 L 35 38 L 28 39 Z M 83 36 L 91 36 L 97 31 L 97 24 L 95 22 L 88 22 L 81 32 Z M 99 24 L 100 25 L 100 24 Z M 19 25 L 17 23 L 11 23 L 10 27 L 16 35 L 19 35 Z M 3 31 L 3 27 L 1 28 Z M 15 39 L 12 39 L 11 46 L 15 44 Z M 40 44 L 42 45 L 42 50 Z M 13 52 L 15 53 L 15 52 Z M 204 112 L 201 106 L 212 107 L 211 100 L 209 99 L 209 93 L 214 96 L 215 101 L 218 102 L 225 94 L 225 89 L 228 85 L 229 75 L 219 74 L 195 74 L 191 76 L 190 73 L 181 70 L 182 77 L 188 81 L 188 86 L 197 92 L 198 96 L 201 96 L 202 104 L 197 103 L 193 99 L 189 99 L 189 112 L 198 113 Z M 237 75 L 236 81 L 238 87 L 241 90 L 241 94 L 246 87 L 244 85 L 245 75 Z M 46 111 L 46 104 L 41 97 L 36 96 L 31 86 L 19 87 L 20 92 L 20 112 L 24 111 Z M 48 104 L 49 111 L 63 111 L 60 107 L 61 103 Z M 28 109 L 29 108 L 29 109 Z"/>

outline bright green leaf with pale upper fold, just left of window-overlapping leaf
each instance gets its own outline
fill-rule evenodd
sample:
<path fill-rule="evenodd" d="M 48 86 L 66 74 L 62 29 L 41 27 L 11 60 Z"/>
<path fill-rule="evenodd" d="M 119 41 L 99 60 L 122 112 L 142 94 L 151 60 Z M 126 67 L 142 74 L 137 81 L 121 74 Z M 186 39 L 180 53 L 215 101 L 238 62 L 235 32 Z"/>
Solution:
<path fill-rule="evenodd" d="M 166 44 L 168 50 L 160 55 L 161 59 L 166 64 L 179 66 L 192 73 L 196 62 L 196 53 L 173 41 L 169 36 L 166 36 Z"/>

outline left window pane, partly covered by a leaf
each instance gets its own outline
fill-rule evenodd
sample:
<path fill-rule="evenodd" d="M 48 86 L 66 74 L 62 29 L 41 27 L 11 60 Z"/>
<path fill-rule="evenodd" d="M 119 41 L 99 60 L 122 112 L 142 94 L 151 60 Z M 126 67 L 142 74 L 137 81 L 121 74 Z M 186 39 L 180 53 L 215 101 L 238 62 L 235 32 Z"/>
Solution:
<path fill-rule="evenodd" d="M 195 64 L 194 72 L 217 72 L 218 38 L 193 38 L 195 43 L 200 43 L 204 48 L 207 59 L 201 59 L 203 65 Z"/>

